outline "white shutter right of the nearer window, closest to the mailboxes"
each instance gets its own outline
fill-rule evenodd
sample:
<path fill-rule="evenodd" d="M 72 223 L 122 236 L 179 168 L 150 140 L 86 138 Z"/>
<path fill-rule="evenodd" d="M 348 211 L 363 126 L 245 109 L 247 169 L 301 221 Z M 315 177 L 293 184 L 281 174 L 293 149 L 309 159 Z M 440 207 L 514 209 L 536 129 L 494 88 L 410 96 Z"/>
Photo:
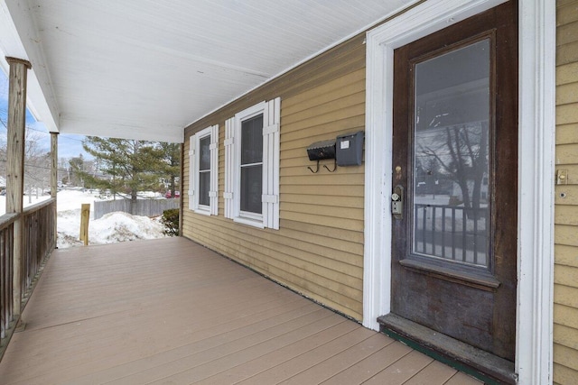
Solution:
<path fill-rule="evenodd" d="M 263 118 L 263 225 L 278 230 L 281 98 L 266 103 Z"/>

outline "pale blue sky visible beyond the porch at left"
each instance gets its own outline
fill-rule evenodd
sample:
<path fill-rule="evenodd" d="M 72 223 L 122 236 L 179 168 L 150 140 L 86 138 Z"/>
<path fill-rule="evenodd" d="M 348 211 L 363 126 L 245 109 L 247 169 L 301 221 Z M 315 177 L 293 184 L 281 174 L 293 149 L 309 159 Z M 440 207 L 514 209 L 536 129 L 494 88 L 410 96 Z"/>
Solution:
<path fill-rule="evenodd" d="M 8 78 L 4 71 L 0 70 L 0 117 L 3 121 L 6 121 L 6 114 L 8 111 Z M 42 122 L 36 122 L 33 115 L 26 110 L 26 126 L 30 128 L 33 135 L 40 142 L 41 148 L 45 149 L 47 152 L 51 149 L 51 135 L 42 124 Z M 0 125 L 0 140 L 5 142 L 6 138 L 6 128 L 4 125 Z M 70 133 L 61 133 L 58 135 L 58 157 L 70 159 L 72 157 L 78 157 L 79 154 L 85 159 L 90 159 L 90 155 L 82 149 L 82 140 L 85 138 L 83 135 L 73 135 Z"/>

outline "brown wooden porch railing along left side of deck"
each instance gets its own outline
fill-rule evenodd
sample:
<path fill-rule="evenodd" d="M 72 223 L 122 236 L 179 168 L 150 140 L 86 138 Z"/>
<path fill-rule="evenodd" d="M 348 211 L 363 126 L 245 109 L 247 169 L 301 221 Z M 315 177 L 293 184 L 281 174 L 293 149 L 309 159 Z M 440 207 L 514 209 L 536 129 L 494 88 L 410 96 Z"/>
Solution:
<path fill-rule="evenodd" d="M 44 263 L 56 247 L 55 209 L 56 198 L 51 198 L 26 207 L 21 215 L 0 216 L 0 359 L 20 317 L 14 314 L 14 223 L 19 217 L 23 220 L 22 312 Z"/>

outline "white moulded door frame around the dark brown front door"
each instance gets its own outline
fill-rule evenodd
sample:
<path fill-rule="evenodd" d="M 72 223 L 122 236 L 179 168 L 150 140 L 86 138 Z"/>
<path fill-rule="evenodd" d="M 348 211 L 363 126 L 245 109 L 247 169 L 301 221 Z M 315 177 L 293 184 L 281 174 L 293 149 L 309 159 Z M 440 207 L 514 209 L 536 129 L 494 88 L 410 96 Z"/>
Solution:
<path fill-rule="evenodd" d="M 427 0 L 368 32 L 363 325 L 390 312 L 393 51 L 504 0 Z M 555 2 L 518 0 L 518 383 L 552 383 Z"/>

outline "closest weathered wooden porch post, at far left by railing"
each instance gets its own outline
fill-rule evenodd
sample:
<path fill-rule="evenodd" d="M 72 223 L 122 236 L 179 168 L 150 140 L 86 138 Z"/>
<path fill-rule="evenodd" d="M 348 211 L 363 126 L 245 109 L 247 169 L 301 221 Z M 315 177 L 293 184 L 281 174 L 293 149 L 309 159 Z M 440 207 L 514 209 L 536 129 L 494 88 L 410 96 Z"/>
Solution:
<path fill-rule="evenodd" d="M 26 125 L 27 60 L 6 57 L 8 75 L 8 138 L 6 141 L 6 213 L 18 213 L 14 221 L 14 316 L 22 312 L 24 130 Z"/>

